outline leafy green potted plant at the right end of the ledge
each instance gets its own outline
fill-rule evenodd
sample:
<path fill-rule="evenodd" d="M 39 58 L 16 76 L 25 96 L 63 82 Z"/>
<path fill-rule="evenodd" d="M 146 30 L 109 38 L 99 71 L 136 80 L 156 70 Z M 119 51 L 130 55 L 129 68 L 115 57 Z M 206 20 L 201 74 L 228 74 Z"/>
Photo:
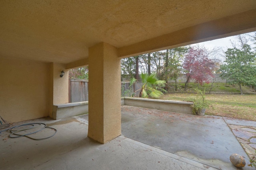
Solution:
<path fill-rule="evenodd" d="M 199 90 L 198 88 L 195 90 L 197 95 L 193 98 L 189 98 L 188 100 L 194 103 L 191 105 L 193 114 L 202 116 L 204 115 L 205 110 L 210 107 L 210 102 L 206 100 L 205 89 L 204 91 Z"/>

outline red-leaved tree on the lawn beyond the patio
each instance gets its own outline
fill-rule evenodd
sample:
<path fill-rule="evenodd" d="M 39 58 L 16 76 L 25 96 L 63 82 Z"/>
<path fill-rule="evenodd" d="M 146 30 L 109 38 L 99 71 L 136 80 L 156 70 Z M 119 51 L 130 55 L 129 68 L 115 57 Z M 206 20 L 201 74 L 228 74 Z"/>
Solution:
<path fill-rule="evenodd" d="M 208 53 L 204 48 L 191 47 L 184 57 L 183 68 L 186 73 L 185 91 L 191 79 L 202 85 L 203 82 L 210 83 L 214 78 L 212 70 L 215 68 L 215 63 L 208 59 Z"/>

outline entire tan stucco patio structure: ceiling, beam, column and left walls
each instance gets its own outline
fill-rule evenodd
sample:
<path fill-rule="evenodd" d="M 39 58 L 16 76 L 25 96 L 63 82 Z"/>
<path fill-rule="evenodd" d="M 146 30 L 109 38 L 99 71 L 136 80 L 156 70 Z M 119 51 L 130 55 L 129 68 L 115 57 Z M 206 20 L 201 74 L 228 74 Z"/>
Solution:
<path fill-rule="evenodd" d="M 89 64 L 88 134 L 106 143 L 121 134 L 121 58 L 256 31 L 255 18 L 255 0 L 2 0 L 1 117 L 52 116 L 68 70 Z"/>

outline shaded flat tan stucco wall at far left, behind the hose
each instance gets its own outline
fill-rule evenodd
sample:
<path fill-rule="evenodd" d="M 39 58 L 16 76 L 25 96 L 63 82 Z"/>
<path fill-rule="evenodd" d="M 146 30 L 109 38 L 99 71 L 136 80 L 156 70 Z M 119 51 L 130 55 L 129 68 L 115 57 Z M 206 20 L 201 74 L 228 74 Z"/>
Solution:
<path fill-rule="evenodd" d="M 0 115 L 8 122 L 49 115 L 47 63 L 0 57 Z"/>

